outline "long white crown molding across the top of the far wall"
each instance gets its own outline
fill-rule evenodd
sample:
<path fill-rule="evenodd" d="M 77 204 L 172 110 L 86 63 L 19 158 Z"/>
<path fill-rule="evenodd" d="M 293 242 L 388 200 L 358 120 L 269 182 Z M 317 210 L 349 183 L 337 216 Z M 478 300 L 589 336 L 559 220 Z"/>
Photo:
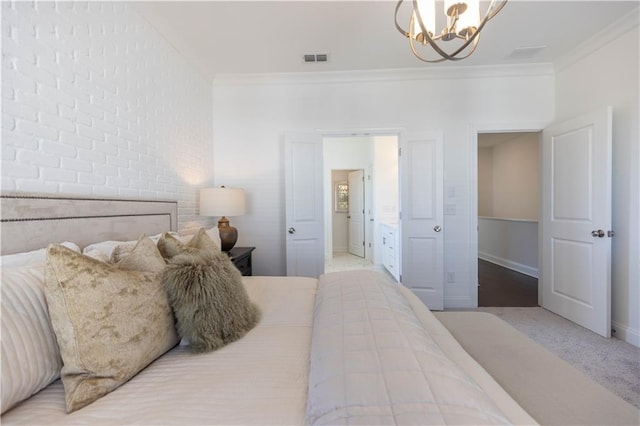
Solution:
<path fill-rule="evenodd" d="M 552 76 L 553 64 L 402 68 L 363 71 L 329 71 L 274 74 L 219 74 L 215 86 L 368 83 L 384 81 L 455 80 L 496 77 Z"/>

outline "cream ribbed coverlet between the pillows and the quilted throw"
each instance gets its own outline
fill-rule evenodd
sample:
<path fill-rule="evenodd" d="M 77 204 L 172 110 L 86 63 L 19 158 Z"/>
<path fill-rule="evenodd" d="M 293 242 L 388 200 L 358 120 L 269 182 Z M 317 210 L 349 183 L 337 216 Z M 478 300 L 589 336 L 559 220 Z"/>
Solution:
<path fill-rule="evenodd" d="M 65 413 L 58 380 L 5 413 L 2 424 L 303 424 L 317 281 L 245 277 L 244 283 L 263 315 L 239 341 L 201 355 L 178 346 L 72 414 Z"/>

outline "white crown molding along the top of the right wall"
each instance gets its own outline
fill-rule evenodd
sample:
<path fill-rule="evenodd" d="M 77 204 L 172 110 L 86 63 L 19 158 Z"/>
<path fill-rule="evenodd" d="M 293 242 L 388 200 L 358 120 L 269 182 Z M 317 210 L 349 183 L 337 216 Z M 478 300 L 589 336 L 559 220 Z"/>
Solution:
<path fill-rule="evenodd" d="M 640 6 L 624 15 L 622 18 L 603 28 L 593 36 L 587 38 L 568 55 L 554 62 L 555 71 L 562 71 L 583 58 L 591 55 L 596 50 L 622 37 L 627 32 L 638 28 L 640 25 Z"/>

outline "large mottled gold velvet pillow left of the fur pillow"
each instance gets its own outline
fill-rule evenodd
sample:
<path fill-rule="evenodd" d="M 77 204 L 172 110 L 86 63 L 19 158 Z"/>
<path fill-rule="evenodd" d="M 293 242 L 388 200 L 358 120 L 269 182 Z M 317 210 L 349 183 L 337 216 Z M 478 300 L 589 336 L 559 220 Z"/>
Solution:
<path fill-rule="evenodd" d="M 47 250 L 45 295 L 68 412 L 116 389 L 178 343 L 155 244 L 141 238 L 130 256 L 113 266 L 59 245 Z M 136 268 L 142 271 L 128 270 Z"/>

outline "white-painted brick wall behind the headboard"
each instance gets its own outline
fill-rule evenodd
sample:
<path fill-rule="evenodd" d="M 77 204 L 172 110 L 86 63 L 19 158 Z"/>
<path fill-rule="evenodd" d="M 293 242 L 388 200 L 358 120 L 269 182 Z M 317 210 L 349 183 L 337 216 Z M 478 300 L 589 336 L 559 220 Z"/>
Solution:
<path fill-rule="evenodd" d="M 180 226 L 200 221 L 212 120 L 211 83 L 132 5 L 2 2 L 3 191 L 178 200 Z"/>

